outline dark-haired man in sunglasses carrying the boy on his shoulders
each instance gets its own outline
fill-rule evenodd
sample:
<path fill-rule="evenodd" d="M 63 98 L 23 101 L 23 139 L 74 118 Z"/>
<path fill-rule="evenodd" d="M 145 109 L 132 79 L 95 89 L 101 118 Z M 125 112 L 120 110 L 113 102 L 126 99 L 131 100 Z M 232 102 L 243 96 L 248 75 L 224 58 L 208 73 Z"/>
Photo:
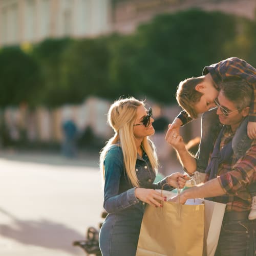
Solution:
<path fill-rule="evenodd" d="M 232 140 L 237 128 L 249 114 L 252 89 L 245 81 L 231 80 L 221 83 L 215 99 L 217 115 L 222 124 L 215 136 L 206 172 L 209 181 L 180 194 L 180 202 L 190 198 L 211 198 L 225 203 L 226 210 L 218 242 L 218 256 L 253 256 L 256 250 L 256 220 L 248 220 L 251 196 L 247 187 L 255 186 L 256 139 L 241 158 L 233 153 Z M 203 127 L 202 127 L 203 129 Z M 178 153 L 188 174 L 197 168 L 196 159 L 185 148 L 177 130 L 169 130 L 166 139 Z M 177 201 L 177 198 L 173 199 Z"/>

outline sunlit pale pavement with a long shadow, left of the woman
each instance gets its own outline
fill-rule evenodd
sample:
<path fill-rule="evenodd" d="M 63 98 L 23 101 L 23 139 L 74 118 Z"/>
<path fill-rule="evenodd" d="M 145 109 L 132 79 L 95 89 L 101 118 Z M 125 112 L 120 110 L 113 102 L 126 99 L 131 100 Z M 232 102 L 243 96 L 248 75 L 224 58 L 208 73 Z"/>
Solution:
<path fill-rule="evenodd" d="M 85 255 L 72 243 L 102 221 L 98 154 L 1 152 L 0 166 L 0 255 Z"/>

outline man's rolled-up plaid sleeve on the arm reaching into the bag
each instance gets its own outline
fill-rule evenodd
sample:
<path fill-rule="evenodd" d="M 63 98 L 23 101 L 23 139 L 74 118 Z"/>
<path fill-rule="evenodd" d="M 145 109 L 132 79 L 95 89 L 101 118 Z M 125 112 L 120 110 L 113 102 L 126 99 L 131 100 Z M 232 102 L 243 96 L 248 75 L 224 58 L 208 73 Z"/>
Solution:
<path fill-rule="evenodd" d="M 256 140 L 253 140 L 245 156 L 233 165 L 232 170 L 220 175 L 220 184 L 227 194 L 236 194 L 239 189 L 256 181 L 255 170 Z"/>

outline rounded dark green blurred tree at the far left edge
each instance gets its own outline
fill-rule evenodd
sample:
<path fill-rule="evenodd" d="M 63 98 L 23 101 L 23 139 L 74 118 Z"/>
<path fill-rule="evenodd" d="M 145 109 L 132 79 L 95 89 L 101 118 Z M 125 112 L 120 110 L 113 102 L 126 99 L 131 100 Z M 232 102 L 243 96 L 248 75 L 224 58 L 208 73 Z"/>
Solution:
<path fill-rule="evenodd" d="M 35 94 L 41 86 L 39 66 L 20 50 L 8 47 L 0 50 L 0 106 L 29 103 L 36 105 Z"/>

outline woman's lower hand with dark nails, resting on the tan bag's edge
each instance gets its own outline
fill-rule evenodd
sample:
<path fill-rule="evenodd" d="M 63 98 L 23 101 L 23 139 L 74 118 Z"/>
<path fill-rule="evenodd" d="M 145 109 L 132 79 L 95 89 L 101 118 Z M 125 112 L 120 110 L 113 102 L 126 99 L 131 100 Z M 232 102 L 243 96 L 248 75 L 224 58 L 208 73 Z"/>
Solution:
<path fill-rule="evenodd" d="M 166 197 L 162 197 L 158 191 L 150 188 L 136 187 L 135 196 L 140 201 L 150 205 L 155 205 L 156 207 L 162 207 L 161 201 L 166 201 Z"/>

